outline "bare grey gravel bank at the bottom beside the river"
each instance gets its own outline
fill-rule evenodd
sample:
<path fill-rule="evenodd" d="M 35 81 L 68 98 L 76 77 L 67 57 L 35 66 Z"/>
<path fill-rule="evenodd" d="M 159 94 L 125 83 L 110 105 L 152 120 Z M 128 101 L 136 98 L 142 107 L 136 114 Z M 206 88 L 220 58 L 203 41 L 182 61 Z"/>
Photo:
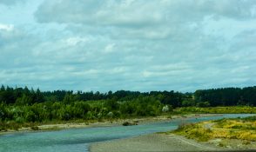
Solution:
<path fill-rule="evenodd" d="M 144 152 L 144 151 L 223 151 L 223 149 L 195 142 L 179 135 L 151 134 L 92 143 L 91 152 Z"/>

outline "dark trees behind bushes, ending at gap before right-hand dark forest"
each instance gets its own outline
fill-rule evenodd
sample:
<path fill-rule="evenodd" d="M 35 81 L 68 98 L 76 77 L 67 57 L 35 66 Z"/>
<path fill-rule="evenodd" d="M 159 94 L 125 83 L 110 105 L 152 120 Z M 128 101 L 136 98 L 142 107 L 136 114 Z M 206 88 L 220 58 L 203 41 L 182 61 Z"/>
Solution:
<path fill-rule="evenodd" d="M 70 104 L 72 102 L 87 102 L 99 100 L 116 100 L 119 102 L 131 101 L 139 97 L 155 97 L 162 103 L 170 104 L 173 107 L 179 107 L 185 98 L 192 98 L 192 96 L 185 96 L 180 92 L 172 91 L 152 91 L 139 92 L 129 90 L 118 90 L 116 92 L 109 91 L 107 93 L 100 92 L 83 92 L 72 90 L 54 90 L 54 91 L 40 91 L 40 89 L 25 88 L 11 88 L 2 85 L 0 89 L 0 102 L 8 105 L 32 105 L 41 102 L 63 102 Z"/>

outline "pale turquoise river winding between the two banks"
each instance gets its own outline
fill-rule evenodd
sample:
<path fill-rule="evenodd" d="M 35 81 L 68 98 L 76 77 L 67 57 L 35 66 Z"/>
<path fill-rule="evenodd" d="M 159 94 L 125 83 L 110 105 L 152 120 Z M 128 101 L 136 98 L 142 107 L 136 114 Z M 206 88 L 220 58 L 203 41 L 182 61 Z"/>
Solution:
<path fill-rule="evenodd" d="M 0 136 L 0 152 L 86 152 L 91 142 L 145 135 L 177 129 L 180 123 L 216 120 L 223 117 L 246 117 L 252 115 L 226 114 L 199 118 L 182 118 L 170 122 L 158 122 L 138 126 L 115 126 L 85 129 L 65 129 L 37 133 L 18 133 Z"/>

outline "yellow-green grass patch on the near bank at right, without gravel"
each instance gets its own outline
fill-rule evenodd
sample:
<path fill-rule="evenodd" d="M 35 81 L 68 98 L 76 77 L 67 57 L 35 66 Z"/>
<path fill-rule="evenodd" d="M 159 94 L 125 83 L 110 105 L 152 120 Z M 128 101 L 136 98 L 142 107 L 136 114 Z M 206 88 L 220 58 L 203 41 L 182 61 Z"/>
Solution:
<path fill-rule="evenodd" d="M 256 116 L 181 125 L 173 133 L 199 142 L 217 138 L 256 142 Z"/>

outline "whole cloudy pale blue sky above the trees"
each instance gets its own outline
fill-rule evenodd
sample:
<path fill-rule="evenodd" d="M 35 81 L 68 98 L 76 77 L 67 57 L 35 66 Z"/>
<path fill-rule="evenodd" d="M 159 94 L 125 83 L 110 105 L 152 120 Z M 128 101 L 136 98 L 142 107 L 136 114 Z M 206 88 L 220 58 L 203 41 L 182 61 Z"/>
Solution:
<path fill-rule="evenodd" d="M 42 90 L 256 85 L 254 0 L 0 0 L 0 84 Z"/>

